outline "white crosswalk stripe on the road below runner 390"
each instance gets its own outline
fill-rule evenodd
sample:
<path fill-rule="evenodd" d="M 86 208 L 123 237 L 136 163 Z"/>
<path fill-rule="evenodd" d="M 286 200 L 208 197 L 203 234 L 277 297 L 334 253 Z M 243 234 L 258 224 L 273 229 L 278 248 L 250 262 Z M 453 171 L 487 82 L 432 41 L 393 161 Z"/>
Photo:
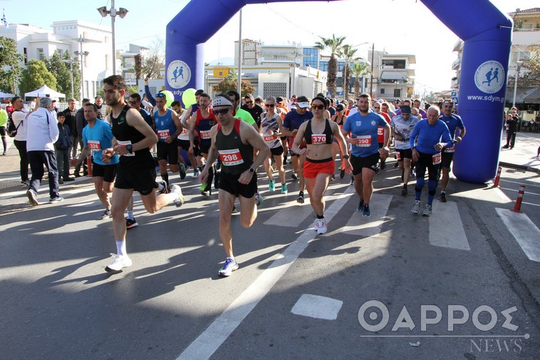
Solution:
<path fill-rule="evenodd" d="M 380 229 L 386 221 L 384 217 L 388 212 L 391 201 L 392 195 L 373 193 L 370 200 L 371 216 L 363 217 L 362 212 L 356 211 L 355 207 L 343 232 L 363 237 L 379 235 Z"/>

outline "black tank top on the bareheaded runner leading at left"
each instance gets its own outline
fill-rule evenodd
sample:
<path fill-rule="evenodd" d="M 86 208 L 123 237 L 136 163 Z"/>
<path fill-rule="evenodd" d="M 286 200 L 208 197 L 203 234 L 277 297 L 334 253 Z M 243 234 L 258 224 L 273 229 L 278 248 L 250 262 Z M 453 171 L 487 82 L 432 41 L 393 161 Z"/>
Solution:
<path fill-rule="evenodd" d="M 115 118 L 113 113 L 110 113 L 110 125 L 113 135 L 120 145 L 125 145 L 127 142 L 131 142 L 133 145 L 145 138 L 145 135 L 142 135 L 133 126 L 128 125 L 128 122 L 125 120 L 126 114 L 131 108 L 129 105 L 124 106 L 118 118 Z M 120 156 L 120 165 L 129 166 L 130 168 L 152 168 L 154 166 L 154 159 L 152 158 L 150 149 L 145 148 L 134 151 L 133 154 Z"/>

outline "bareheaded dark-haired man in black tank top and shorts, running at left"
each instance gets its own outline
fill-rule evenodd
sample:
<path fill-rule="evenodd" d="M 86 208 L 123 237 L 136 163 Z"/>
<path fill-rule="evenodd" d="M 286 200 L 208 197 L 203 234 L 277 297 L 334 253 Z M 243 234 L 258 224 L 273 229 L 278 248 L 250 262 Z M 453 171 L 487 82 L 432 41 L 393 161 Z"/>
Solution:
<path fill-rule="evenodd" d="M 113 75 L 103 80 L 105 103 L 113 108 L 110 123 L 113 127 L 113 148 L 103 150 L 103 162 L 117 153 L 120 155 L 118 175 L 113 190 L 113 203 L 110 212 L 113 215 L 113 227 L 117 254 L 114 261 L 105 267 L 107 272 L 120 272 L 123 267 L 131 266 L 131 259 L 125 250 L 124 210 L 133 191 L 140 193 L 142 203 L 150 214 L 160 210 L 170 202 L 177 206 L 184 203 L 180 186 L 172 185 L 168 193 L 165 182 L 155 182 L 155 167 L 150 148 L 157 143 L 157 135 L 140 113 L 125 104 L 125 82 L 121 76 Z M 159 189 L 161 195 L 156 196 Z"/>

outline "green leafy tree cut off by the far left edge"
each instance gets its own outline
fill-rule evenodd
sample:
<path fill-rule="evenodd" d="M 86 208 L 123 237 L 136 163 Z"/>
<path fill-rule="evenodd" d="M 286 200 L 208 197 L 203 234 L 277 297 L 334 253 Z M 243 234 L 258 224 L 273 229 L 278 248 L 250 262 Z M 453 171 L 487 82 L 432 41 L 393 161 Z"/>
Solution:
<path fill-rule="evenodd" d="M 21 73 L 19 63 L 24 58 L 17 53 L 17 43 L 12 38 L 0 36 L 0 90 L 16 93 L 16 81 Z"/>

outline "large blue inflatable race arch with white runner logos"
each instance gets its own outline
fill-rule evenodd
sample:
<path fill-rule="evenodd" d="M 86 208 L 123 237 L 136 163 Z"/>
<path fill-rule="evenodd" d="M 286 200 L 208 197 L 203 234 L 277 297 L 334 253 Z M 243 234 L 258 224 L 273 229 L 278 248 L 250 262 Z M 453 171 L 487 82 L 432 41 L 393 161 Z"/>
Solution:
<path fill-rule="evenodd" d="M 421 1 L 464 41 L 459 115 L 467 135 L 456 147 L 453 173 L 462 181 L 487 182 L 499 163 L 512 20 L 489 0 Z M 243 6 L 272 2 L 288 0 L 190 1 L 167 24 L 165 88 L 177 100 L 187 88 L 203 88 L 203 44 Z"/>

